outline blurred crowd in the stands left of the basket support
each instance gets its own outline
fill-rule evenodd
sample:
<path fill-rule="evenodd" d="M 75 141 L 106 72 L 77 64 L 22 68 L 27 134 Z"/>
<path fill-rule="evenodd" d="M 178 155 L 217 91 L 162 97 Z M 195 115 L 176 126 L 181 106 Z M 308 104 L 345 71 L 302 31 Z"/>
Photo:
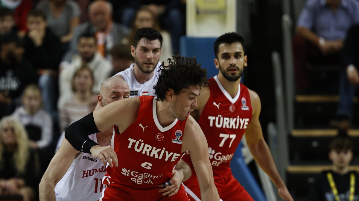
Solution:
<path fill-rule="evenodd" d="M 0 195 L 36 200 L 61 133 L 136 62 L 136 30 L 160 31 L 162 62 L 178 53 L 183 17 L 180 0 L 1 0 Z"/>

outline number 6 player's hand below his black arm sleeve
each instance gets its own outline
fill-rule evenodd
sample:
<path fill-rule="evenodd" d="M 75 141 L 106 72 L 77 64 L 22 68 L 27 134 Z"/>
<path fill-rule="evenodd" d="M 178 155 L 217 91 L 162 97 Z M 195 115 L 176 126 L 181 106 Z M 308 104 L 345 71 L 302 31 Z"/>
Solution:
<path fill-rule="evenodd" d="M 100 158 L 105 167 L 107 165 L 105 160 L 108 161 L 110 167 L 113 167 L 113 164 L 118 167 L 117 155 L 112 147 L 101 147 L 99 145 L 95 145 L 91 147 L 90 152 L 94 157 Z"/>

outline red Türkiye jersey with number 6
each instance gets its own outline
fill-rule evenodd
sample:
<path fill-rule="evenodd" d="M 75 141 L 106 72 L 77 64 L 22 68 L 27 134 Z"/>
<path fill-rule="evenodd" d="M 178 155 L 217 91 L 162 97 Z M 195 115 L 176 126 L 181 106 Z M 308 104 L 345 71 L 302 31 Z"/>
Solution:
<path fill-rule="evenodd" d="M 158 200 L 162 198 L 158 185 L 169 181 L 184 154 L 181 149 L 187 119 L 176 119 L 163 128 L 157 119 L 157 98 L 146 95 L 139 98 L 136 121 L 121 134 L 115 129 L 113 148 L 118 167 L 107 166 L 109 181 L 104 183 L 116 188 L 146 190 L 150 200 Z"/>

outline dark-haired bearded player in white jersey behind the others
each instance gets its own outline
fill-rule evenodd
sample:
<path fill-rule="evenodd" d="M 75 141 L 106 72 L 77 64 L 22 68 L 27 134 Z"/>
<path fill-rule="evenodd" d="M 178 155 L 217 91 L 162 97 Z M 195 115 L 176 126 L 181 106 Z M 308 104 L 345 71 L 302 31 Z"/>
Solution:
<path fill-rule="evenodd" d="M 153 86 L 157 84 L 161 63 L 162 35 L 152 28 L 136 31 L 131 54 L 135 63 L 130 68 L 114 75 L 124 79 L 130 87 L 130 97 L 154 95 Z"/>

